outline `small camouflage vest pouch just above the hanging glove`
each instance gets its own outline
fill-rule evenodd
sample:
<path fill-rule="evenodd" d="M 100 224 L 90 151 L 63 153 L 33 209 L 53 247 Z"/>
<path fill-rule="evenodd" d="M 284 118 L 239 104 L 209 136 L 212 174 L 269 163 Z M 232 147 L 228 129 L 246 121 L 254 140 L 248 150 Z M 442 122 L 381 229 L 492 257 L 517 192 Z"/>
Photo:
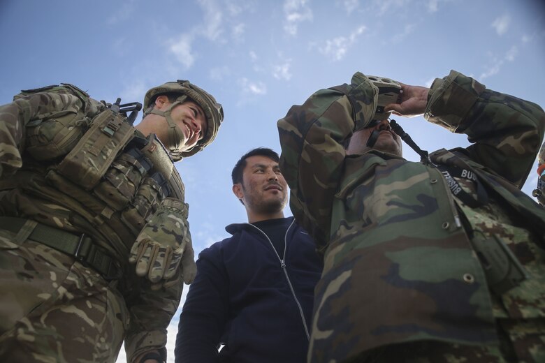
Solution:
<path fill-rule="evenodd" d="M 122 212 L 122 221 L 129 228 L 133 228 L 134 234 L 138 235 L 157 211 L 161 200 L 169 194 L 167 181 L 161 173 L 156 172 L 151 177 L 145 177 L 138 186 L 136 196 L 131 200 L 129 207 Z"/>

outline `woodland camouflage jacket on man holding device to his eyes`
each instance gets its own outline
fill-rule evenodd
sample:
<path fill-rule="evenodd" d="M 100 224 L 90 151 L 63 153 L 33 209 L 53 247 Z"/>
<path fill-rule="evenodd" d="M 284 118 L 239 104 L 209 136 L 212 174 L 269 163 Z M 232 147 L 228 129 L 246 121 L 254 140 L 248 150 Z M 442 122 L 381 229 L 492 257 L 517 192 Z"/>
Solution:
<path fill-rule="evenodd" d="M 494 343 L 484 272 L 439 170 L 375 150 L 345 153 L 343 142 L 370 122 L 374 92 L 356 73 L 278 121 L 291 210 L 324 252 L 309 362 L 424 339 Z M 473 143 L 433 161 L 469 165 L 543 242 L 545 214 L 519 189 L 542 142 L 543 110 L 452 71 L 434 82 L 425 117 Z"/>

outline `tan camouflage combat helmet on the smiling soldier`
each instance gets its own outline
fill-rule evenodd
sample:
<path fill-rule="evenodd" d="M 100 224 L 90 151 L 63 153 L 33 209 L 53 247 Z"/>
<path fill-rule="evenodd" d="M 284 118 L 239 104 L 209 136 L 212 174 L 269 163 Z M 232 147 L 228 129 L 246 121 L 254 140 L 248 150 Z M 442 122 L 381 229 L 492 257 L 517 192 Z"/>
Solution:
<path fill-rule="evenodd" d="M 153 110 L 152 101 L 161 94 L 180 94 L 176 101 L 170 105 L 170 108 L 166 111 Z M 180 151 L 179 145 L 184 136 L 174 123 L 173 119 L 170 117 L 170 111 L 176 106 L 184 101 L 187 98 L 198 103 L 199 106 L 203 109 L 206 117 L 207 131 L 206 135 L 198 141 L 197 145 L 190 150 Z M 196 154 L 198 151 L 201 151 L 205 148 L 206 145 L 210 144 L 214 140 L 219 130 L 221 121 L 224 119 L 224 110 L 219 103 L 216 102 L 215 98 L 208 94 L 204 89 L 197 87 L 195 84 L 187 80 L 177 80 L 176 82 L 166 82 L 161 84 L 161 86 L 153 87 L 146 92 L 144 97 L 144 116 L 147 114 L 159 114 L 166 118 L 168 122 L 168 139 L 169 139 L 169 151 L 170 156 L 174 161 L 179 161 L 184 156 L 191 156 Z"/>

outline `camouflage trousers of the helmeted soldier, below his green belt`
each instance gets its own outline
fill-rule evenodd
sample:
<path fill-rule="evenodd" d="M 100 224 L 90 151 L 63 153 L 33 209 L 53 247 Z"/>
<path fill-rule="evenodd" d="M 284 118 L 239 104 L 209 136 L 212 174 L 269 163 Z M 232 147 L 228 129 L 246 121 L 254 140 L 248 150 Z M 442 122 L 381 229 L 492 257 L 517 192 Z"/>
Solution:
<path fill-rule="evenodd" d="M 128 326 L 117 289 L 80 262 L 0 230 L 0 362 L 115 362 Z"/>

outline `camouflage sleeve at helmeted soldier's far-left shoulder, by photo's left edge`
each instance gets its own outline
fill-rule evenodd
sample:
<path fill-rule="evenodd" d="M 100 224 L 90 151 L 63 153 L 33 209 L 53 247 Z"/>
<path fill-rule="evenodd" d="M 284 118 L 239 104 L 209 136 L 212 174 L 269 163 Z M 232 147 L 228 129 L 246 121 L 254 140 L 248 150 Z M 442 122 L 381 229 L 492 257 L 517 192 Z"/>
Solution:
<path fill-rule="evenodd" d="M 0 177 L 22 166 L 25 128 L 30 121 L 59 112 L 78 112 L 82 101 L 71 94 L 41 92 L 0 106 Z"/>

